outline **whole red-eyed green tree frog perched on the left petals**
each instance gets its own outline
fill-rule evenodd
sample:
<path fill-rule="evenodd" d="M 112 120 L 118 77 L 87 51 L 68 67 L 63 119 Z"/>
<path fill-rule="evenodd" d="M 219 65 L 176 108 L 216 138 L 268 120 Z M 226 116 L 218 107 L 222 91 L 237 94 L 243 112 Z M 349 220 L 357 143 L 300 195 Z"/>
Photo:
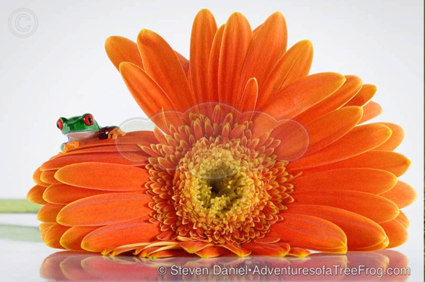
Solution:
<path fill-rule="evenodd" d="M 60 117 L 56 123 L 62 134 L 68 137 L 68 142 L 63 143 L 60 149 L 63 153 L 79 145 L 103 139 L 116 139 L 125 135 L 118 126 L 100 127 L 92 114 L 83 114 L 77 117 Z"/>

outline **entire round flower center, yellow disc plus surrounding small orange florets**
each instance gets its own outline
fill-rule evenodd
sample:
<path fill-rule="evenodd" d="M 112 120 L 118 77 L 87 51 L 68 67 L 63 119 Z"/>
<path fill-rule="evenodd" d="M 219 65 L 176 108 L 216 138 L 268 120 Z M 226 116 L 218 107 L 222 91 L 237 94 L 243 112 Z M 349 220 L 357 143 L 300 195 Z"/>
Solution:
<path fill-rule="evenodd" d="M 154 195 L 150 206 L 161 240 L 239 245 L 264 237 L 282 219 L 282 200 L 292 191 L 285 182 L 292 176 L 273 154 L 280 142 L 252 138 L 252 123 L 233 123 L 232 114 L 213 120 L 190 114 L 186 125 L 170 127 L 167 144 L 146 148 L 158 154 L 149 159 L 146 187 Z"/>

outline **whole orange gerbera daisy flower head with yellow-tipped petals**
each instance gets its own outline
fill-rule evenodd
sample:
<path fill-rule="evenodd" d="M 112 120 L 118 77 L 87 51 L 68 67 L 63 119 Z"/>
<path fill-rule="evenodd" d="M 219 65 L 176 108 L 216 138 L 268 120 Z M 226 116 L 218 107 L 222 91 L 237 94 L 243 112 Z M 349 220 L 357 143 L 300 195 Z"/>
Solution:
<path fill-rule="evenodd" d="M 407 239 L 415 191 L 393 152 L 403 130 L 354 75 L 308 75 L 312 45 L 286 50 L 272 14 L 217 28 L 195 17 L 190 61 L 158 34 L 106 52 L 158 126 L 80 145 L 34 174 L 28 199 L 48 246 L 142 257 L 374 251 Z"/>

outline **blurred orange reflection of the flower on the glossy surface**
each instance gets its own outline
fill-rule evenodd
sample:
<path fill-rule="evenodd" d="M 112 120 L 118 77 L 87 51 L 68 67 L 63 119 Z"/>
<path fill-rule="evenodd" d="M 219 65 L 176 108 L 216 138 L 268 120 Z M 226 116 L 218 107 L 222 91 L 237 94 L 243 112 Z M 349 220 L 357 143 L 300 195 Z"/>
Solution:
<path fill-rule="evenodd" d="M 167 270 L 163 275 L 159 274 L 160 266 Z M 360 274 L 347 274 L 341 270 L 341 268 L 348 268 L 352 271 L 362 266 L 363 269 L 373 268 L 378 271 L 377 273 L 362 271 Z M 306 258 L 173 257 L 155 260 L 61 251 L 51 254 L 43 261 L 40 274 L 46 279 L 56 281 L 405 281 L 408 278 L 407 274 L 389 276 L 386 273 L 390 268 L 407 267 L 407 257 L 392 250 L 348 252 L 345 255 L 318 253 Z M 196 269 L 199 269 L 201 274 L 191 275 L 190 271 Z M 273 272 L 275 269 L 278 269 L 280 273 Z M 302 269 L 307 269 L 310 273 L 303 275 L 301 272 L 295 275 L 297 270 Z M 332 269 L 332 274 L 329 275 L 323 271 L 324 269 Z M 187 275 L 183 275 L 184 271 L 187 271 Z M 244 271 L 247 273 L 243 273 Z M 269 271 L 272 271 L 272 274 Z M 317 274 L 312 275 L 311 271 Z M 382 278 L 379 274 L 382 274 Z"/>

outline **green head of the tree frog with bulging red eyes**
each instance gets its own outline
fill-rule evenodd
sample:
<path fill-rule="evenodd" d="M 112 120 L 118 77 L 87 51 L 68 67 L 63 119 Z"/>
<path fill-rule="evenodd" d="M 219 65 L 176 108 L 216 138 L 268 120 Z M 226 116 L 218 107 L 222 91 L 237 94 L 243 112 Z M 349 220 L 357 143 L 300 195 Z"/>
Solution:
<path fill-rule="evenodd" d="M 82 116 L 70 118 L 60 117 L 56 126 L 65 135 L 74 132 L 96 132 L 100 129 L 92 114 L 83 114 Z"/>

